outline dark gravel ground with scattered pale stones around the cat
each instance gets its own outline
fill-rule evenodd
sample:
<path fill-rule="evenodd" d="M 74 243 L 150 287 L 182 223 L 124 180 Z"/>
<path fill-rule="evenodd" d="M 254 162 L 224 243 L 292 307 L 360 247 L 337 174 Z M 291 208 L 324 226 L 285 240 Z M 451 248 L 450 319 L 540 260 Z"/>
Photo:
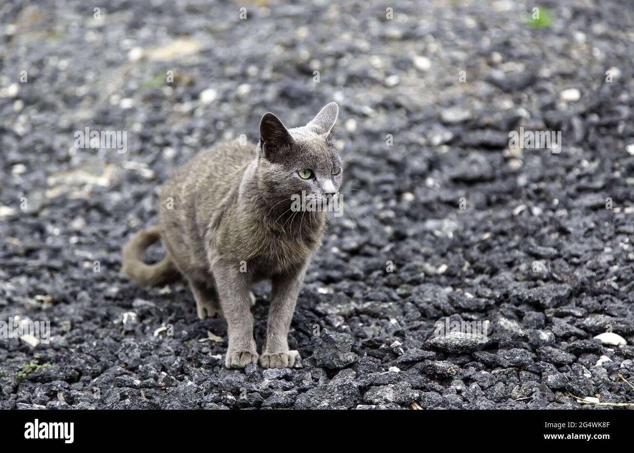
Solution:
<path fill-rule="evenodd" d="M 1 408 L 634 402 L 615 387 L 634 383 L 629 0 L 548 1 L 534 22 L 506 0 L 99 3 L 0 6 L 0 320 L 51 326 L 0 338 Z M 225 369 L 224 321 L 183 284 L 127 281 L 120 246 L 197 151 L 330 101 L 349 215 L 297 303 L 302 363 Z M 127 152 L 76 148 L 86 127 Z M 511 148 L 519 127 L 560 131 L 560 152 Z M 448 319 L 483 330 L 442 335 Z"/>

